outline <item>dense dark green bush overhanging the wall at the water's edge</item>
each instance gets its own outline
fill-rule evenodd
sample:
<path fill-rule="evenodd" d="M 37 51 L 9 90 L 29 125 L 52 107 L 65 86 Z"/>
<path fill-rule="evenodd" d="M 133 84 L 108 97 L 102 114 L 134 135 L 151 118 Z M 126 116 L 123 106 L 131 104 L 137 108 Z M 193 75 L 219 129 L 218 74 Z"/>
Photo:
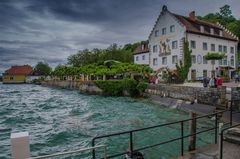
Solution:
<path fill-rule="evenodd" d="M 130 96 L 138 96 L 138 82 L 132 79 L 95 81 L 95 84 L 104 91 L 104 94 L 111 96 L 122 96 L 128 93 Z"/>

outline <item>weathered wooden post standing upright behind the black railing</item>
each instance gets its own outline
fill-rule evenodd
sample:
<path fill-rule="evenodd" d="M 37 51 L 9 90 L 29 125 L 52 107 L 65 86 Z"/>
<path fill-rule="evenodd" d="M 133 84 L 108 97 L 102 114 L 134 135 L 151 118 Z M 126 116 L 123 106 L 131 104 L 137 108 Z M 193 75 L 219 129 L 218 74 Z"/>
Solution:
<path fill-rule="evenodd" d="M 189 116 L 190 116 L 190 119 L 192 119 L 189 121 L 189 134 L 192 136 L 189 137 L 188 150 L 193 151 L 196 149 L 196 135 L 194 134 L 196 133 L 196 129 L 197 129 L 197 122 L 195 119 L 197 117 L 197 114 L 190 112 Z"/>

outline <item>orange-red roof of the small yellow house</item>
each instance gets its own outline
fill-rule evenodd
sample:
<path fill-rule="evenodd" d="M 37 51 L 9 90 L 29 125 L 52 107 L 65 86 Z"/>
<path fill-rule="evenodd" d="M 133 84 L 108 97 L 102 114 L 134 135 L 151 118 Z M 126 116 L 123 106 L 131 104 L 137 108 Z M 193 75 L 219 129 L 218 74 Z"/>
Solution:
<path fill-rule="evenodd" d="M 23 66 L 12 66 L 10 69 L 5 71 L 5 74 L 9 75 L 29 75 L 33 72 L 33 68 L 29 65 Z"/>

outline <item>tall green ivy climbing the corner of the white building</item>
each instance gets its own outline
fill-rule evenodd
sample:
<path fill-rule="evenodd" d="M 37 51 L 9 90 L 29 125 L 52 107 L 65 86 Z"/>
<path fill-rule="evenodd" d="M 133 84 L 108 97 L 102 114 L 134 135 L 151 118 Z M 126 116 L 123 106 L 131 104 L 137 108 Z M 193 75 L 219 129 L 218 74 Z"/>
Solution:
<path fill-rule="evenodd" d="M 179 64 L 176 64 L 177 74 L 179 77 L 178 81 L 182 82 L 187 79 L 189 69 L 192 66 L 192 50 L 189 49 L 189 44 L 187 41 L 185 41 L 183 45 L 184 62 L 180 61 Z"/>

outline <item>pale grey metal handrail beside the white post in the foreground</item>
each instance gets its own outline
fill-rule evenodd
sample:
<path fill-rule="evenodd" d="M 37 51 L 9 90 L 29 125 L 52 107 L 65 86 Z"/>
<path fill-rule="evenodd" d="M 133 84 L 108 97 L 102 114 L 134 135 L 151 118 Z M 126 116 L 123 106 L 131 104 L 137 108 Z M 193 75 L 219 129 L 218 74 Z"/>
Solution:
<path fill-rule="evenodd" d="M 50 158 L 50 157 L 57 157 L 57 156 L 63 156 L 63 155 L 69 155 L 69 154 L 84 152 L 84 151 L 88 151 L 88 150 L 94 150 L 94 149 L 102 148 L 102 147 L 104 148 L 104 159 L 107 159 L 107 149 L 106 149 L 107 146 L 106 145 L 98 145 L 98 146 L 83 148 L 83 149 L 74 150 L 74 151 L 58 152 L 58 153 L 51 154 L 51 155 L 31 157 L 31 158 L 28 158 L 28 159 L 44 159 L 44 158 Z"/>

